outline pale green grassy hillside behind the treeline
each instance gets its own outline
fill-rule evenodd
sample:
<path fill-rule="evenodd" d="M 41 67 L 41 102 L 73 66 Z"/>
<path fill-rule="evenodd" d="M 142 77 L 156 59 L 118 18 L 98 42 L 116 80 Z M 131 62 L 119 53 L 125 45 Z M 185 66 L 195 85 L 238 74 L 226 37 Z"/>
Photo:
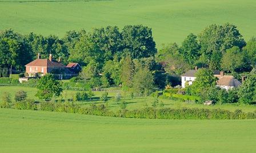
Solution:
<path fill-rule="evenodd" d="M 159 47 L 198 34 L 212 23 L 233 23 L 246 39 L 256 36 L 254 0 L 0 0 L 0 30 L 63 36 L 69 30 L 144 24 Z"/>

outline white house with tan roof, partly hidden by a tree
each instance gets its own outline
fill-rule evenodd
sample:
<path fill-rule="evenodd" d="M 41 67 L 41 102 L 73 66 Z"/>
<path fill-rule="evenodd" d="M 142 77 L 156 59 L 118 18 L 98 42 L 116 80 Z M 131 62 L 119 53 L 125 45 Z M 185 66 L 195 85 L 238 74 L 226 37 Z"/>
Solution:
<path fill-rule="evenodd" d="M 186 87 L 186 84 L 193 84 L 193 81 L 195 81 L 195 72 L 197 72 L 197 68 L 194 70 L 189 70 L 186 73 L 184 73 L 181 76 L 181 86 L 182 88 Z M 227 76 L 224 75 L 224 72 L 219 71 L 213 71 L 214 76 L 218 78 L 217 86 L 219 86 L 222 89 L 229 90 L 234 87 L 238 87 L 241 85 L 241 82 L 239 82 L 234 76 Z"/>

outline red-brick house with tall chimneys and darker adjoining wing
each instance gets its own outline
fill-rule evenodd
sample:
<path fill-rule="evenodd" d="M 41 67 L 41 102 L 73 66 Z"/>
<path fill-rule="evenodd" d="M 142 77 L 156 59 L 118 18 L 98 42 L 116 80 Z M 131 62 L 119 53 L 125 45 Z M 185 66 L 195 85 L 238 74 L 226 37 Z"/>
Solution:
<path fill-rule="evenodd" d="M 75 63 L 78 64 L 78 63 Z M 78 64 L 79 65 L 79 64 Z M 49 59 L 41 59 L 40 54 L 36 60 L 31 61 L 29 64 L 25 65 L 26 73 L 29 77 L 43 76 L 46 73 L 52 73 L 59 79 L 70 78 L 78 75 L 77 72 L 71 72 L 70 68 L 61 63 L 61 58 L 59 60 L 54 60 L 53 56 L 50 54 Z M 80 67 L 80 66 L 79 66 Z M 81 68 L 81 67 L 80 67 Z"/>

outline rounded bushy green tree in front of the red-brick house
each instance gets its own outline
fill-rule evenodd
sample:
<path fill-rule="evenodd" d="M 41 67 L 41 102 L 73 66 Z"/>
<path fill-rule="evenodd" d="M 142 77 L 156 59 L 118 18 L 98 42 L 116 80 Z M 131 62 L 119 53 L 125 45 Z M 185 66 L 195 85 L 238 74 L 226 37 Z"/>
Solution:
<path fill-rule="evenodd" d="M 60 82 L 55 80 L 51 74 L 47 74 L 38 80 L 37 89 L 35 96 L 45 101 L 50 101 L 53 96 L 59 97 L 63 91 Z"/>

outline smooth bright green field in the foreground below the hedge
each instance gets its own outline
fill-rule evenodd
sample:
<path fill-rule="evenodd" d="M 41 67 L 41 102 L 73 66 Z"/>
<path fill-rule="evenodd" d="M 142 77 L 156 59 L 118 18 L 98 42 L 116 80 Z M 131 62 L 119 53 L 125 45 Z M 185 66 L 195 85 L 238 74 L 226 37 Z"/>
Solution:
<path fill-rule="evenodd" d="M 0 109 L 1 152 L 255 152 L 255 120 L 162 120 Z"/>

